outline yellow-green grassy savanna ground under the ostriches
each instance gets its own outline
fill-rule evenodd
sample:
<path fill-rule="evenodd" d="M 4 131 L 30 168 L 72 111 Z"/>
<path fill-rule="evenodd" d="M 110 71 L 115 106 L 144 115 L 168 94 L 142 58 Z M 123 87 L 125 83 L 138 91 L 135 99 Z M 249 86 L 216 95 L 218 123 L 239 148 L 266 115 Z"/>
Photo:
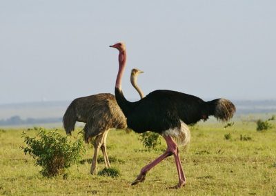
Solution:
<path fill-rule="evenodd" d="M 143 183 L 130 186 L 140 169 L 161 155 L 148 151 L 136 133 L 112 130 L 108 135 L 110 164 L 119 169 L 119 177 L 90 175 L 92 145 L 80 164 L 68 169 L 66 177 L 43 177 L 34 159 L 24 155 L 21 133 L 26 129 L 0 130 L 0 194 L 1 195 L 276 195 L 276 124 L 264 132 L 256 131 L 250 117 L 235 119 L 235 124 L 215 121 L 190 128 L 192 139 L 180 156 L 187 184 L 179 190 L 168 189 L 177 184 L 173 157 L 155 166 Z M 64 134 L 64 130 L 60 129 Z M 73 135 L 77 135 L 75 131 Z M 38 130 L 26 130 L 35 136 Z M 65 135 L 65 134 L 64 134 Z M 226 139 L 228 135 L 228 139 Z M 229 137 L 230 136 L 230 137 Z M 99 159 L 98 170 L 104 163 Z"/>

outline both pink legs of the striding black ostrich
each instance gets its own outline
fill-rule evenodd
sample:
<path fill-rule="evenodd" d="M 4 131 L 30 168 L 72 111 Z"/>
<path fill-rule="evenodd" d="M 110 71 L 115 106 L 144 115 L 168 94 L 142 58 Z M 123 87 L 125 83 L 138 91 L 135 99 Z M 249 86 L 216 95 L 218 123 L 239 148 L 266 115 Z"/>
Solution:
<path fill-rule="evenodd" d="M 179 177 L 179 183 L 177 184 L 177 186 L 174 186 L 174 188 L 181 188 L 181 186 L 184 186 L 186 184 L 186 177 L 182 170 L 177 144 L 175 144 L 175 141 L 173 141 L 172 137 L 170 136 L 164 136 L 164 139 L 166 140 L 166 143 L 168 146 L 166 152 L 160 157 L 158 157 L 157 159 L 155 159 L 154 161 L 152 161 L 150 164 L 142 168 L 141 173 L 138 175 L 137 179 L 135 179 L 135 181 L 132 182 L 131 185 L 135 185 L 135 184 L 138 184 L 139 182 L 143 182 L 145 180 L 146 173 L 148 173 L 148 171 L 151 168 L 159 164 L 160 161 L 162 161 L 163 159 L 165 159 L 170 155 L 174 155 L 175 157 L 175 164 L 177 166 L 177 173 Z"/>

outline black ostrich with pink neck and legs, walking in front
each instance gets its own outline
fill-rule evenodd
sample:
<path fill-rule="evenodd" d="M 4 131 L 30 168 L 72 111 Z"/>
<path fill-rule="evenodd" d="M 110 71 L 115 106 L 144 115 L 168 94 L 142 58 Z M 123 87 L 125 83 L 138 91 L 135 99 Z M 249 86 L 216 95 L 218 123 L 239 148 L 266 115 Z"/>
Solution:
<path fill-rule="evenodd" d="M 215 116 L 219 121 L 228 121 L 235 112 L 235 106 L 227 99 L 203 101 L 199 97 L 172 90 L 155 90 L 136 102 L 128 101 L 121 90 L 121 79 L 126 67 L 126 46 L 119 42 L 110 46 L 119 50 L 119 70 L 115 84 L 117 103 L 127 119 L 128 127 L 136 133 L 150 130 L 164 137 L 166 152 L 144 166 L 132 185 L 143 182 L 148 171 L 166 157 L 173 155 L 177 166 L 179 182 L 173 188 L 185 186 L 186 177 L 182 170 L 177 144 L 186 145 L 190 141 L 188 124 Z"/>

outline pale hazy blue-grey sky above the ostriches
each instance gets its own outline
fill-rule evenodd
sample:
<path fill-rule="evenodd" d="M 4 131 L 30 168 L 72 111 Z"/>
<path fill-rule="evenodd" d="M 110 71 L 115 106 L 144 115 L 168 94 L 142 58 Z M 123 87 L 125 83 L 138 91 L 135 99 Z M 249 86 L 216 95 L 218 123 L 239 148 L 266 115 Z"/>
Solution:
<path fill-rule="evenodd" d="M 0 104 L 114 93 L 276 99 L 276 1 L 0 1 Z"/>

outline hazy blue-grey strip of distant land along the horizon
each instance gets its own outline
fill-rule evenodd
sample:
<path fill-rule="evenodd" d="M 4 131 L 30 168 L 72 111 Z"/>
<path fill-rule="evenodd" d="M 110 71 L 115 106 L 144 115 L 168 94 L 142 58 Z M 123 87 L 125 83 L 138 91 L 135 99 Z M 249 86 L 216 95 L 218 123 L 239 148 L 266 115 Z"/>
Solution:
<path fill-rule="evenodd" d="M 276 112 L 275 100 L 232 100 L 237 108 L 236 117 L 249 114 L 273 114 Z M 41 101 L 18 104 L 0 104 L 0 120 L 20 117 L 21 119 L 60 118 L 71 101 Z"/>

